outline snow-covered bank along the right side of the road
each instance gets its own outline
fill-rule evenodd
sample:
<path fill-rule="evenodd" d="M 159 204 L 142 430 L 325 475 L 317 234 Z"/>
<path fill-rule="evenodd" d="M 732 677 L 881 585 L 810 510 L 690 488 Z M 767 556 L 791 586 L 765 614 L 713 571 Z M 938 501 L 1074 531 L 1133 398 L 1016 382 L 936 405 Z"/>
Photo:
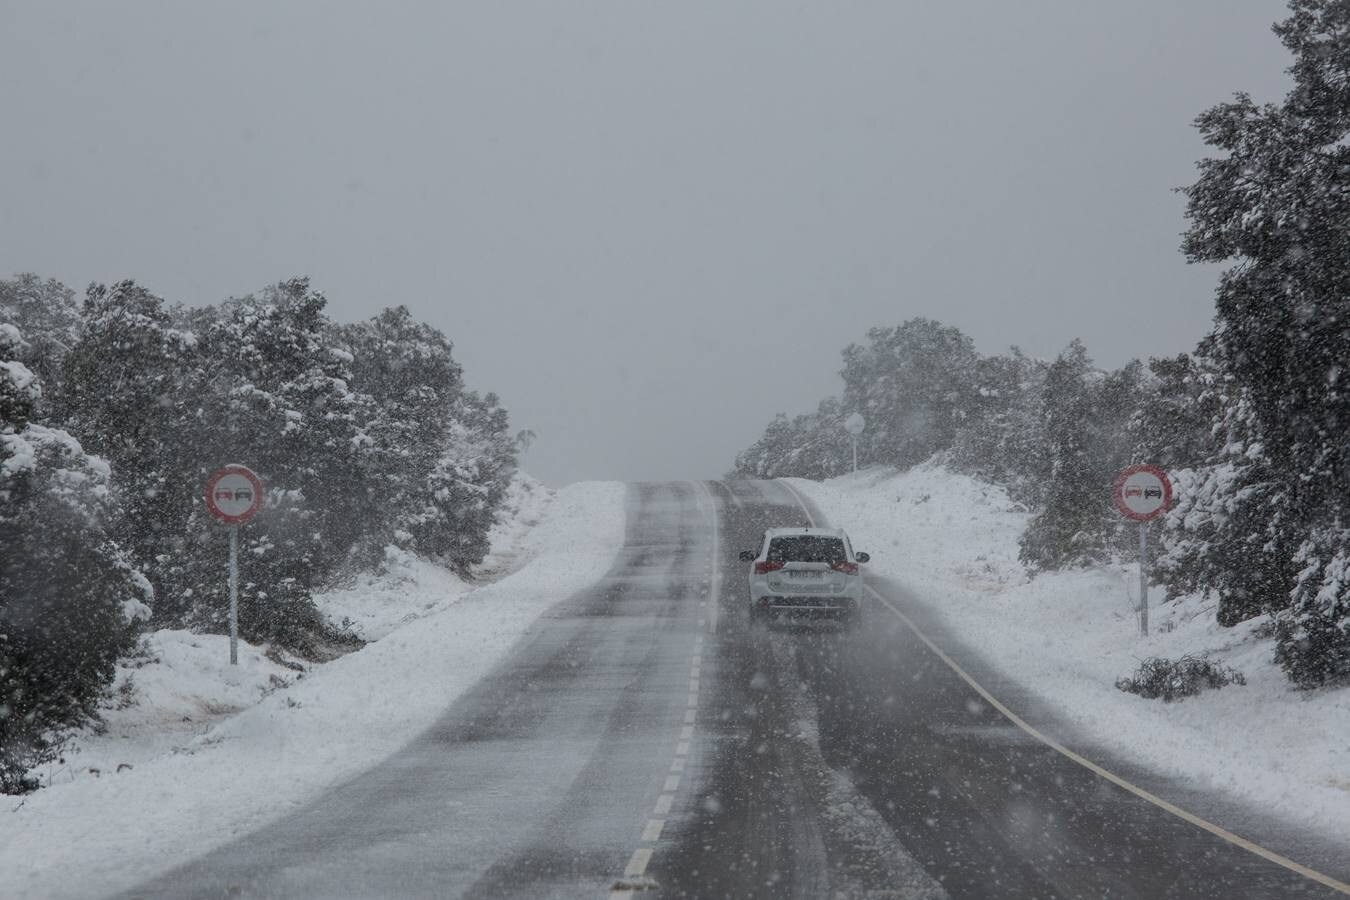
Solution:
<path fill-rule="evenodd" d="M 1202 598 L 1160 603 L 1154 587 L 1153 633 L 1139 637 L 1133 564 L 1029 579 L 1018 561 L 1026 511 L 1000 487 L 941 466 L 788 480 L 872 553 L 869 568 L 911 587 L 1089 739 L 1322 834 L 1350 833 L 1350 688 L 1295 690 L 1260 621 L 1224 629 Z M 1233 665 L 1247 683 L 1177 703 L 1115 688 L 1146 657 L 1184 654 Z"/>

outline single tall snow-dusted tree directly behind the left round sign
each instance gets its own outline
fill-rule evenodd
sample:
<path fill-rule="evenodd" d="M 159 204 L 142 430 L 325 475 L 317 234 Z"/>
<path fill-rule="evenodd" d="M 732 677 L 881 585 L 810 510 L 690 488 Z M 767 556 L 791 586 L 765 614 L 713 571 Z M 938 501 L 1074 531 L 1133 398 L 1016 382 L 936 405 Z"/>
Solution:
<path fill-rule="evenodd" d="M 221 464 L 254 468 L 267 499 L 240 532 L 239 629 L 301 652 L 323 633 L 312 592 L 348 559 L 374 502 L 369 398 L 350 387 L 351 360 L 331 345 L 324 306 L 308 281 L 292 279 L 194 314 L 204 390 L 185 472 L 193 494 L 184 552 L 165 567 L 189 621 L 223 627 L 225 532 L 200 487 Z"/>

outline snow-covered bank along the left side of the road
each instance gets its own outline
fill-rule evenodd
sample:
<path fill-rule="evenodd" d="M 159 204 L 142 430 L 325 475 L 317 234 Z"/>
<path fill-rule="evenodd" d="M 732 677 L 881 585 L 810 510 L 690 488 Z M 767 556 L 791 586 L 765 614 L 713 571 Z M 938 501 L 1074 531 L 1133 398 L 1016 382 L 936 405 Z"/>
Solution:
<path fill-rule="evenodd" d="M 436 567 L 404 560 L 389 580 L 316 598 L 327 615 L 379 640 L 304 677 L 288 660 L 247 645 L 240 667 L 228 671 L 200 658 L 202 650 L 225 658 L 223 638 L 155 634 L 144 665 L 131 672 L 136 690 L 128 700 L 139 702 L 109 711 L 107 733 L 81 741 L 88 748 L 78 757 L 80 777 L 57 773 L 47 788 L 7 799 L 4 896 L 90 897 L 131 888 L 398 750 L 544 610 L 602 578 L 622 546 L 622 484 L 535 491 L 504 526 L 504 542 L 514 544 L 494 545 L 495 571 L 512 573 L 493 584 L 473 590 Z M 528 528 L 532 518 L 537 524 Z M 150 661 L 155 656 L 159 661 Z M 169 726 L 185 715 L 193 722 Z M 138 727 L 155 716 L 165 727 Z M 119 733 L 138 757 L 120 772 Z M 88 772 L 89 760 L 101 764 L 99 777 Z"/>

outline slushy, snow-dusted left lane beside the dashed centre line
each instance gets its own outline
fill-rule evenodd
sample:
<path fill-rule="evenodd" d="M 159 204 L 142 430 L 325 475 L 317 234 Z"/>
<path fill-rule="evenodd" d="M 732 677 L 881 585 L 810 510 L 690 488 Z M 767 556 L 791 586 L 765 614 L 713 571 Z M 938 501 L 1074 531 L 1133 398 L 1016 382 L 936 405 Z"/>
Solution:
<path fill-rule="evenodd" d="M 594 896 L 687 795 L 713 515 L 694 484 L 634 486 L 609 573 L 429 729 L 127 896 Z"/>

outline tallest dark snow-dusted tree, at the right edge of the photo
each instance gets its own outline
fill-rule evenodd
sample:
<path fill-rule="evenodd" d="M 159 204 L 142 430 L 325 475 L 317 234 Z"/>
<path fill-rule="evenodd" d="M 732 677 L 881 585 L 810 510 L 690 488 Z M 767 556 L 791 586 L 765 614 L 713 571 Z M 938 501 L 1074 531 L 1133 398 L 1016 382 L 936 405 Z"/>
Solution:
<path fill-rule="evenodd" d="M 1350 675 L 1350 5 L 1289 9 L 1284 103 L 1239 93 L 1196 120 L 1222 155 L 1185 190 L 1183 250 L 1231 263 L 1204 347 L 1231 376 L 1228 452 L 1207 480 L 1251 556 L 1215 587 L 1230 610 L 1276 613 L 1287 671 L 1318 684 Z"/>

